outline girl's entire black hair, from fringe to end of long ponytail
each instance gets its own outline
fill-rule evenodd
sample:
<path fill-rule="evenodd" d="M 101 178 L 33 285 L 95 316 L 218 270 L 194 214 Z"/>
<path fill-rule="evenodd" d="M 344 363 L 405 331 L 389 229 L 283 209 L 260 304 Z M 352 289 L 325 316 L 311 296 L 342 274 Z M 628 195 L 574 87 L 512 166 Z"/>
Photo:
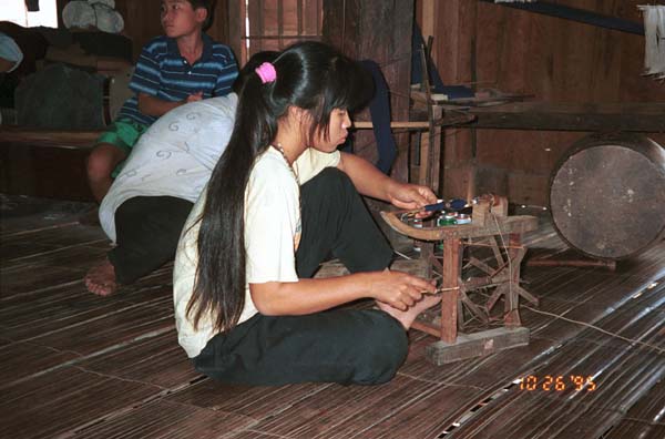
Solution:
<path fill-rule="evenodd" d="M 194 294 L 187 304 L 195 327 L 209 313 L 217 330 L 232 329 L 245 306 L 245 187 L 255 160 L 277 134 L 277 121 L 289 106 L 300 108 L 311 116 L 309 139 L 316 132 L 327 135 L 332 110 L 354 110 L 374 90 L 360 64 L 324 43 L 290 45 L 273 64 L 274 82 L 248 75 L 231 140 L 208 182 L 198 218 Z"/>

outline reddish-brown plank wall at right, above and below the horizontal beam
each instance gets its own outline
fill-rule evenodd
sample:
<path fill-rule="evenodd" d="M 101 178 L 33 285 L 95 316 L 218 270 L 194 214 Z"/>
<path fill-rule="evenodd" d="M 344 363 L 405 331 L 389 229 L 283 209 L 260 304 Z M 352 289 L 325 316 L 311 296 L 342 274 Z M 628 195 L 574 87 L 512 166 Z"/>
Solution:
<path fill-rule="evenodd" d="M 417 7 L 421 25 L 426 22 L 422 16 L 426 1 L 419 0 Z M 638 0 L 560 3 L 642 21 L 636 8 Z M 468 13 L 471 4 L 477 8 L 475 16 Z M 434 13 L 432 53 L 444 83 L 477 82 L 478 88 L 533 94 L 534 100 L 545 102 L 665 102 L 663 85 L 641 75 L 644 39 L 640 35 L 484 1 L 437 2 Z M 474 63 L 470 65 L 471 53 Z M 444 195 L 464 195 L 460 193 L 463 187 L 460 181 L 474 175 L 479 192 L 491 191 L 508 195 L 512 202 L 544 205 L 546 186 L 534 186 L 534 178 L 546 180 L 573 137 L 575 134 L 559 132 L 534 135 L 494 130 L 477 131 L 475 141 L 471 133 L 467 137 L 459 133 L 447 135 Z M 653 135 L 653 139 L 663 142 L 665 136 Z M 543 154 L 544 149 L 550 151 Z M 469 152 L 467 156 L 463 151 Z M 473 154 L 475 151 L 478 156 Z M 546 167 L 541 166 L 543 155 Z M 501 164 L 497 163 L 499 157 Z M 514 160 L 520 163 L 515 165 Z M 523 169 L 524 163 L 536 166 Z M 473 166 L 478 170 L 469 172 Z"/>

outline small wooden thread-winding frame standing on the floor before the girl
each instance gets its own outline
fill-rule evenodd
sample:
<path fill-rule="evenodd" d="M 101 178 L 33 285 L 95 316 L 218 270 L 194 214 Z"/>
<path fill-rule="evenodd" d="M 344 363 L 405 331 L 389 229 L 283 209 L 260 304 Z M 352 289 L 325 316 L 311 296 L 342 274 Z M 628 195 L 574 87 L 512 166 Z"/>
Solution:
<path fill-rule="evenodd" d="M 416 228 L 402 221 L 405 215 L 412 214 L 413 212 L 381 212 L 383 220 L 396 231 L 429 243 L 421 245 L 421 259 L 427 262 L 428 267 L 428 273 L 423 275 L 431 278 L 433 270 L 441 274 L 440 314 L 426 312 L 412 326 L 440 338 L 428 347 L 428 358 L 441 365 L 529 344 L 529 329 L 521 326 L 519 296 L 534 305 L 538 305 L 538 299 L 520 286 L 520 264 L 526 253 L 521 235 L 536 229 L 538 218 L 528 215 L 509 216 L 508 201 L 495 196 L 478 200 L 470 224 Z M 509 236 L 508 243 L 503 242 L 503 235 Z M 497 236 L 502 241 L 501 246 Z M 441 243 L 442 262 L 434 255 L 431 242 Z M 480 270 L 482 276 L 463 280 L 464 246 L 490 248 L 495 266 L 471 256 L 468 266 Z M 469 293 L 480 288 L 494 288 L 484 305 L 469 298 Z M 501 298 L 503 313 L 500 320 L 503 327 L 473 334 L 458 331 L 458 328 L 464 329 L 466 326 L 464 309 L 472 318 L 487 326 L 492 320 L 491 312 Z"/>

